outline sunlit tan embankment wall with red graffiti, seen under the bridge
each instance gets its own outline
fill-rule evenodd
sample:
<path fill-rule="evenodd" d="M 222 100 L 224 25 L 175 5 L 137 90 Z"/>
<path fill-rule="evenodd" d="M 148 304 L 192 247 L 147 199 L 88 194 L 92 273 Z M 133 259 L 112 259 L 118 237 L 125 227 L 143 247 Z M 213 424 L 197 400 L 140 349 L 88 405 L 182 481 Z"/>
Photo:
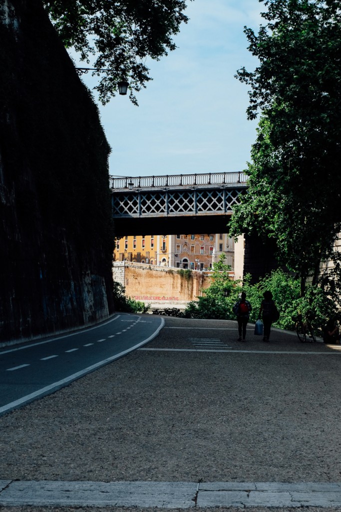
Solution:
<path fill-rule="evenodd" d="M 126 295 L 151 309 L 186 308 L 190 301 L 202 295 L 201 289 L 211 284 L 211 272 L 180 271 L 143 263 L 115 262 L 113 280 L 125 286 Z M 233 272 L 231 272 L 233 279 Z"/>

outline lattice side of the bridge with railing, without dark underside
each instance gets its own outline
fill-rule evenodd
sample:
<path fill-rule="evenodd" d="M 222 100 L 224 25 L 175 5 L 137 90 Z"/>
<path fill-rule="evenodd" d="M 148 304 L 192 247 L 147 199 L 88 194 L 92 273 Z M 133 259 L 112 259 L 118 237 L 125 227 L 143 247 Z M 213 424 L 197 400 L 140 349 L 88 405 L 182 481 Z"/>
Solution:
<path fill-rule="evenodd" d="M 146 180 L 147 178 L 132 178 L 126 181 L 123 186 L 118 187 L 112 180 L 112 212 L 115 218 L 143 218 L 143 217 L 182 217 L 182 216 L 209 216 L 209 215 L 230 215 L 233 207 L 239 203 L 239 196 L 246 190 L 246 177 L 242 173 L 225 173 L 217 175 L 186 175 L 207 176 L 206 183 L 193 184 L 172 183 L 171 185 L 151 185 L 147 182 L 145 186 L 131 186 L 133 180 Z M 217 181 L 220 177 L 220 182 Z M 155 178 L 149 177 L 155 183 Z M 167 177 L 178 178 L 180 176 Z M 181 176 L 183 181 L 184 176 Z M 129 179 L 129 178 L 128 178 Z M 228 181 L 230 180 L 230 182 Z M 210 181 L 210 182 L 209 182 Z M 141 181 L 140 181 L 141 183 Z M 119 183 L 122 185 L 122 183 Z"/>

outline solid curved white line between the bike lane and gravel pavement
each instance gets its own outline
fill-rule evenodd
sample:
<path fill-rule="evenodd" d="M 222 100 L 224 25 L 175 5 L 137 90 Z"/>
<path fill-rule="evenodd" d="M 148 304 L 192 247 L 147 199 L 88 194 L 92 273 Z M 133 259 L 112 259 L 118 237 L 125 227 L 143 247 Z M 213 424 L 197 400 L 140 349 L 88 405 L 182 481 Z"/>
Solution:
<path fill-rule="evenodd" d="M 150 342 L 152 339 L 154 339 L 158 333 L 161 331 L 161 329 L 164 327 L 165 321 L 162 318 L 160 326 L 146 339 L 144 339 L 142 342 L 137 343 L 136 345 L 133 345 L 132 347 L 129 347 L 126 350 L 123 350 L 122 352 L 119 352 L 118 354 L 115 354 L 111 357 L 108 357 L 106 359 L 103 359 L 102 361 L 97 362 L 95 365 L 88 366 L 87 368 L 83 368 L 83 370 L 80 370 L 79 372 L 73 373 L 72 375 L 69 375 L 68 377 L 65 377 L 64 379 L 58 380 L 56 382 L 53 382 L 49 386 L 45 386 L 44 388 L 40 388 L 37 391 L 34 391 L 33 393 L 30 393 L 29 395 L 22 396 L 21 398 L 18 398 L 17 400 L 14 400 L 13 402 L 7 403 L 5 406 L 0 407 L 0 415 L 3 413 L 6 413 L 8 411 L 11 411 L 13 409 L 16 409 L 25 403 L 28 403 L 35 398 L 38 398 L 43 395 L 47 395 L 52 391 L 57 391 L 58 389 L 66 386 L 69 382 L 72 382 L 76 379 L 79 379 L 80 377 L 83 377 L 84 375 L 87 375 L 90 372 L 93 372 L 97 370 L 98 368 L 101 368 L 102 366 L 107 365 L 109 362 L 115 361 L 116 359 L 119 359 L 123 357 L 126 354 L 129 354 L 130 352 L 139 349 L 143 345 L 146 345 L 146 343 Z M 24 365 L 29 366 L 29 365 Z M 10 370 L 14 370 L 15 368 L 12 368 Z"/>

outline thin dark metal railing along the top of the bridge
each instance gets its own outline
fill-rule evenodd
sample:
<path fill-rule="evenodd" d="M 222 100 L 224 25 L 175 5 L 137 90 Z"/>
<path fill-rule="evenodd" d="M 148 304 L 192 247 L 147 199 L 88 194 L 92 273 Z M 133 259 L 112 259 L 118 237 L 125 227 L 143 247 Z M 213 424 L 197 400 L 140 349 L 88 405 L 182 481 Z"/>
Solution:
<path fill-rule="evenodd" d="M 197 185 L 229 185 L 240 183 L 245 185 L 247 176 L 242 172 L 235 173 L 205 173 L 205 174 L 179 174 L 166 176 L 139 176 L 139 177 L 115 177 L 109 176 L 110 188 L 134 189 L 153 187 L 176 187 Z"/>

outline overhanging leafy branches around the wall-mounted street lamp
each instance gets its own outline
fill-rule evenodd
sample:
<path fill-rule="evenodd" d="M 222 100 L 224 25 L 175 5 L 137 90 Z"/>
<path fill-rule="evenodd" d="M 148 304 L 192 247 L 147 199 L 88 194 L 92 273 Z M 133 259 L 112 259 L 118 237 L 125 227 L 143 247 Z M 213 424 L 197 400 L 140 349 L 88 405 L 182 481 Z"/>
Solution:
<path fill-rule="evenodd" d="M 100 101 L 115 96 L 117 82 L 127 80 L 130 99 L 152 78 L 148 57 L 159 60 L 176 48 L 172 36 L 187 23 L 185 0 L 42 0 L 66 48 L 79 52 L 81 61 L 95 59 L 101 76 Z"/>

